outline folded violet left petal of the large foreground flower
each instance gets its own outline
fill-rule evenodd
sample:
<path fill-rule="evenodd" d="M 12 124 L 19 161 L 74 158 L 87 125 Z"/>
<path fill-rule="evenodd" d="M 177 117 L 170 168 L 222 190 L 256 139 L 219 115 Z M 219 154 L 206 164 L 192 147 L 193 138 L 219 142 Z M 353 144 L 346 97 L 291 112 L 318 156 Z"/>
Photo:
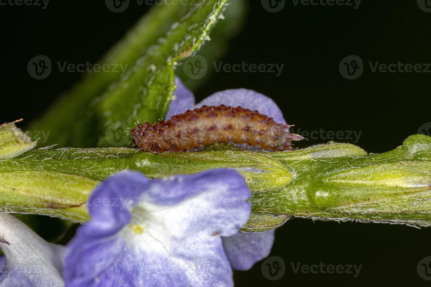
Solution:
<path fill-rule="evenodd" d="M 97 186 L 87 201 L 92 219 L 78 228 L 66 251 L 66 286 L 97 286 L 99 278 L 108 275 L 105 266 L 117 264 L 116 256 L 122 257 L 125 243 L 117 241 L 116 235 L 131 221 L 130 210 L 148 184 L 141 173 L 130 172 L 111 176 Z"/>

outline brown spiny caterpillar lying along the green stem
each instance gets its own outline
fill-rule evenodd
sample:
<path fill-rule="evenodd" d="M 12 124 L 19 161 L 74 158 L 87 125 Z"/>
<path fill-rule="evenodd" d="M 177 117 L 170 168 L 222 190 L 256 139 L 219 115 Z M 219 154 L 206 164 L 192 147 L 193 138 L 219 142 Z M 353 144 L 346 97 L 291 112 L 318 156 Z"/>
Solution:
<path fill-rule="evenodd" d="M 290 125 L 241 107 L 206 106 L 171 116 L 159 123 L 138 124 L 131 130 L 141 151 L 188 151 L 216 142 L 259 145 L 272 151 L 291 151 L 302 136 L 285 132 Z"/>

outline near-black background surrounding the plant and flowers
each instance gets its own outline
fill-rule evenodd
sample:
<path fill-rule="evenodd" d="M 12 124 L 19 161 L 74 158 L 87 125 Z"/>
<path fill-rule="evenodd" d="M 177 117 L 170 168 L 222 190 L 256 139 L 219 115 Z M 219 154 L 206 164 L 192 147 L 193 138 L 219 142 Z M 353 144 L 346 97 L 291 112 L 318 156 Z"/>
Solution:
<path fill-rule="evenodd" d="M 136 5 L 131 1 L 131 7 Z M 28 123 L 79 79 L 78 73 L 53 69 L 46 80 L 34 80 L 28 61 L 40 54 L 53 61 L 96 62 L 147 6 L 112 13 L 103 1 L 52 1 L 47 9 L 0 6 L 0 122 L 24 117 Z M 284 64 L 274 73 L 212 73 L 197 91 L 197 102 L 228 88 L 254 89 L 272 97 L 288 123 L 313 131 L 362 131 L 356 144 L 378 153 L 396 148 L 419 127 L 431 127 L 431 73 L 372 73 L 368 61 L 431 63 L 431 13 L 416 1 L 362 0 L 352 6 L 294 6 L 270 13 L 250 1 L 243 32 L 230 42 L 225 63 Z M 340 61 L 358 55 L 365 64 L 359 79 L 347 80 Z M 211 67 L 211 66 L 210 66 Z M 431 68 L 430 68 L 431 70 Z M 353 142 L 337 139 L 337 142 Z M 310 139 L 299 147 L 328 142 Z M 431 228 L 356 222 L 292 219 L 276 231 L 271 256 L 281 256 L 286 274 L 267 280 L 261 262 L 236 272 L 237 286 L 256 284 L 374 286 L 378 283 L 420 286 L 416 265 L 431 256 Z M 362 265 L 357 278 L 348 274 L 294 274 L 291 262 Z"/>

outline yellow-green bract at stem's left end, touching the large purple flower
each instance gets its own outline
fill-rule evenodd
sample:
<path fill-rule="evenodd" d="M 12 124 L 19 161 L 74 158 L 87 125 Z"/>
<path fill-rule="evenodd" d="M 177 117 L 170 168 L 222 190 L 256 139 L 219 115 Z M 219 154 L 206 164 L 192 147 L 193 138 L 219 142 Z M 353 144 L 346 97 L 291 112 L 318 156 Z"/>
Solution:
<path fill-rule="evenodd" d="M 36 213 L 82 222 L 86 201 L 99 181 L 47 171 L 0 172 L 3 212 Z M 25 204 L 23 204 L 25 203 Z"/>

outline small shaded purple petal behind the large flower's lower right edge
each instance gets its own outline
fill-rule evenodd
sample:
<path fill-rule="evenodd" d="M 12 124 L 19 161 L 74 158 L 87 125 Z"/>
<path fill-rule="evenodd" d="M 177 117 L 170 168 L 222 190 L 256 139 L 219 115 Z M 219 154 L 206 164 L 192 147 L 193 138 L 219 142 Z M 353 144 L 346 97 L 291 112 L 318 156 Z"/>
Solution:
<path fill-rule="evenodd" d="M 248 270 L 254 263 L 267 257 L 274 243 L 274 231 L 239 232 L 236 235 L 222 237 L 223 247 L 232 268 Z"/>

